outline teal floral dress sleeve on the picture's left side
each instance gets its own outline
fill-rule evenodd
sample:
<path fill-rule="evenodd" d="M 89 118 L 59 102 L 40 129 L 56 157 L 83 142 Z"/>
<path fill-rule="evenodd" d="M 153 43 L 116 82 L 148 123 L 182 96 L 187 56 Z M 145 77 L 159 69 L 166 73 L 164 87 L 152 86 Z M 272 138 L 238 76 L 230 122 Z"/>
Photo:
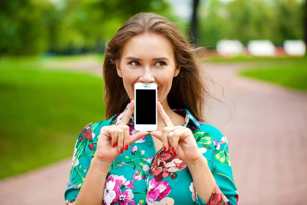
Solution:
<path fill-rule="evenodd" d="M 72 204 L 76 200 L 90 168 L 96 145 L 97 137 L 92 133 L 92 124 L 89 124 L 82 129 L 76 139 L 70 177 L 67 183 L 68 188 L 64 193 L 65 204 Z"/>

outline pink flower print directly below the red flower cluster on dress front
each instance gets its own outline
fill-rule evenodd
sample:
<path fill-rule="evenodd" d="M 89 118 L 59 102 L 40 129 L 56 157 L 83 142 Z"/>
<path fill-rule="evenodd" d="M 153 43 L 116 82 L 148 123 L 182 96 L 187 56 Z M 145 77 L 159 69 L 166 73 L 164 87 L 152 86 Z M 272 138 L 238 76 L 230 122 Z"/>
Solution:
<path fill-rule="evenodd" d="M 157 182 L 155 178 L 151 178 L 148 182 L 146 202 L 150 203 L 155 200 L 161 200 L 169 194 L 170 190 L 171 188 L 168 186 L 167 181 Z"/>

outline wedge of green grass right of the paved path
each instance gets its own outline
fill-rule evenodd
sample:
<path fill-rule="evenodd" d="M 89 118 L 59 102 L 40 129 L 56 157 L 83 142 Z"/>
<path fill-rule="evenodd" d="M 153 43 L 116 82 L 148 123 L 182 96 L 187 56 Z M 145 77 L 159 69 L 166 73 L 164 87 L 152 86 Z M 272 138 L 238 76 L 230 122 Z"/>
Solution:
<path fill-rule="evenodd" d="M 268 61 L 266 66 L 241 70 L 239 75 L 307 91 L 307 57 Z"/>

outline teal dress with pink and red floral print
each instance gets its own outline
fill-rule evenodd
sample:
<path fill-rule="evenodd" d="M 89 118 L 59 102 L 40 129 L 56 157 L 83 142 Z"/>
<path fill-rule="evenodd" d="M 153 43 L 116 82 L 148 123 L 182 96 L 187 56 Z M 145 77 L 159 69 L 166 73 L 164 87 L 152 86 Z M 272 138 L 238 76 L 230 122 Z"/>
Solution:
<path fill-rule="evenodd" d="M 232 176 L 226 137 L 211 125 L 197 121 L 186 109 L 174 110 L 185 116 L 183 126 L 191 129 L 203 156 L 206 157 L 216 186 L 207 204 L 237 204 L 238 193 Z M 100 129 L 119 124 L 123 113 L 108 120 L 87 125 L 78 135 L 65 204 L 77 198 L 96 150 Z M 134 118 L 128 126 L 134 129 Z M 192 176 L 184 161 L 164 152 L 156 153 L 152 136 L 146 135 L 124 151 L 109 168 L 103 202 L 105 205 L 127 204 L 205 204 L 195 191 Z"/>

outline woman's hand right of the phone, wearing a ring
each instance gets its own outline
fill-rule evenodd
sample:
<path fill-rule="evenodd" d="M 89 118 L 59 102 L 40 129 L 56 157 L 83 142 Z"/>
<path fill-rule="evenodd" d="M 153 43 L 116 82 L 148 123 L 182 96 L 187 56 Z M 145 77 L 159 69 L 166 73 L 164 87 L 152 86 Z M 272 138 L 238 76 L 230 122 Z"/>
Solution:
<path fill-rule="evenodd" d="M 171 150 L 175 156 L 186 163 L 195 162 L 203 157 L 191 130 L 183 126 L 174 126 L 159 101 L 157 108 L 166 127 L 162 129 L 162 132 L 152 131 L 150 134 L 162 141 L 164 152 Z"/>

